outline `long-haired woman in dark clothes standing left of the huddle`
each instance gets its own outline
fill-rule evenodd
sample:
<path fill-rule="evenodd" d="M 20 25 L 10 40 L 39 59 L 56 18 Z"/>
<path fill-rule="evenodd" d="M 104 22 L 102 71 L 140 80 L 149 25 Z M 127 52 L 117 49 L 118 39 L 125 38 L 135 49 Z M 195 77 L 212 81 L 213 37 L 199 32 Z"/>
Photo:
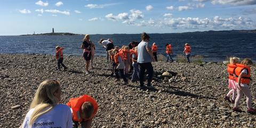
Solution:
<path fill-rule="evenodd" d="M 91 57 L 92 57 L 91 45 L 92 45 L 92 42 L 90 40 L 90 35 L 86 34 L 84 36 L 83 43 L 81 45 L 81 49 L 84 50 L 83 57 L 84 57 L 84 60 L 86 61 L 85 74 L 89 74 L 88 69 L 89 69 L 90 60 L 91 60 Z"/>

